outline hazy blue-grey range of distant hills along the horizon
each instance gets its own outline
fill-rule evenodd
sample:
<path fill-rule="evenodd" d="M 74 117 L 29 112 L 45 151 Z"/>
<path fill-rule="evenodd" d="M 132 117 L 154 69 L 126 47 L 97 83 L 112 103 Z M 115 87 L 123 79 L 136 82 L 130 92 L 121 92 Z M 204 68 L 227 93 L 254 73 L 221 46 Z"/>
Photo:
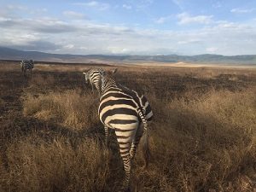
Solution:
<path fill-rule="evenodd" d="M 0 47 L 0 60 L 23 60 L 35 61 L 60 61 L 60 62 L 90 62 L 90 61 L 113 61 L 113 62 L 190 62 L 211 64 L 233 65 L 256 65 L 256 55 L 68 55 L 49 54 L 39 51 L 25 51 Z"/>

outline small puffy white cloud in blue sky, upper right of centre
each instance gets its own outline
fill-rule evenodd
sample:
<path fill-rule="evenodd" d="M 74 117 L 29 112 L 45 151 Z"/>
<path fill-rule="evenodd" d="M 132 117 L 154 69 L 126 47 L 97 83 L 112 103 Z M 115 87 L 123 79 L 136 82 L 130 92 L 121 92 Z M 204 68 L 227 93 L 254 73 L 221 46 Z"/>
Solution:
<path fill-rule="evenodd" d="M 196 15 L 190 16 L 187 13 L 182 13 L 177 15 L 178 24 L 186 25 L 186 24 L 209 24 L 212 22 L 212 15 Z"/>

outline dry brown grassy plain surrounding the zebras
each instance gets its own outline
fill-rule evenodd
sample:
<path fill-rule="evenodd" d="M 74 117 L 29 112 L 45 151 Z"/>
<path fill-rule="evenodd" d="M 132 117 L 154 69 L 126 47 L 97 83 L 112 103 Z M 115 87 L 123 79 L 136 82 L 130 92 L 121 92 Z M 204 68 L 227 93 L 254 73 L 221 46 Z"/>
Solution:
<path fill-rule="evenodd" d="M 38 63 L 24 78 L 18 62 L 0 63 L 0 191 L 119 191 L 115 136 L 106 148 L 81 73 L 91 65 Z M 154 112 L 133 191 L 256 191 L 255 69 L 122 66 L 114 78 Z"/>

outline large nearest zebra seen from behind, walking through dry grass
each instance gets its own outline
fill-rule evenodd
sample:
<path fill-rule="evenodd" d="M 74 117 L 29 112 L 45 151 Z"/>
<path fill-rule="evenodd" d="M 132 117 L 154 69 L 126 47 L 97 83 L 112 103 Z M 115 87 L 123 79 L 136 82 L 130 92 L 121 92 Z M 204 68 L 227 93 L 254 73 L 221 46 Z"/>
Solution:
<path fill-rule="evenodd" d="M 125 168 L 125 188 L 129 190 L 131 160 L 136 154 L 141 137 L 143 137 L 144 168 L 148 166 L 148 120 L 152 119 L 153 113 L 145 96 L 117 84 L 106 73 L 99 76 L 97 84 L 100 95 L 98 114 L 104 125 L 106 143 L 108 143 L 108 129 L 113 129 Z"/>

